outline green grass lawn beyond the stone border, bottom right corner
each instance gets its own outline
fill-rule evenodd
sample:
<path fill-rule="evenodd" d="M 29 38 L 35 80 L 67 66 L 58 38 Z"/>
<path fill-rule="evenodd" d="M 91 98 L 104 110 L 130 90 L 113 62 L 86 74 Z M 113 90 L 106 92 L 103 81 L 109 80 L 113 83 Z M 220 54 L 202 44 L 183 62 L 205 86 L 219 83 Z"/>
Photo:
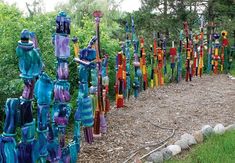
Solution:
<path fill-rule="evenodd" d="M 234 163 L 235 132 L 213 135 L 203 144 L 192 147 L 184 156 L 176 156 L 167 163 Z"/>

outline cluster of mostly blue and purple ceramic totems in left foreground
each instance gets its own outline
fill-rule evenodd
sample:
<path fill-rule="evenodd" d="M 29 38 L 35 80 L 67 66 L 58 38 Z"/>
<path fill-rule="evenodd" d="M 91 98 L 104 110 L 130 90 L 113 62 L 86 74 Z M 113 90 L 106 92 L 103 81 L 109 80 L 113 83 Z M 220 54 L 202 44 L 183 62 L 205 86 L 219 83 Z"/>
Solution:
<path fill-rule="evenodd" d="M 100 13 L 94 14 L 98 26 Z M 93 142 L 93 136 L 106 133 L 105 115 L 109 110 L 108 93 L 108 56 L 99 58 L 92 47 L 97 42 L 93 37 L 89 45 L 78 55 L 77 39 L 73 38 L 75 61 L 78 63 L 79 85 L 77 109 L 74 116 L 74 134 L 66 144 L 66 126 L 71 113 L 69 63 L 70 18 L 65 12 L 56 17 L 56 34 L 53 36 L 55 57 L 57 59 L 56 81 L 44 72 L 41 51 L 36 35 L 23 30 L 18 41 L 16 54 L 19 58 L 20 77 L 24 90 L 19 98 L 9 98 L 5 104 L 5 123 L 0 137 L 1 163 L 75 163 L 80 151 L 80 129 L 84 129 L 84 138 Z M 98 63 L 99 62 L 99 63 Z M 97 65 L 100 64 L 100 69 Z M 91 81 L 88 81 L 91 73 Z M 98 76 L 101 75 L 100 78 Z M 103 78 L 102 78 L 103 77 Z M 102 80 L 102 81 L 100 81 Z M 88 88 L 88 83 L 91 87 Z M 101 85 L 99 85 L 100 83 Z M 99 89 L 102 91 L 102 110 L 98 108 Z M 54 100 L 52 101 L 52 97 Z M 37 119 L 33 117 L 33 100 L 37 103 Z M 50 111 L 51 103 L 53 107 Z M 16 129 L 21 128 L 21 139 L 16 143 Z"/>

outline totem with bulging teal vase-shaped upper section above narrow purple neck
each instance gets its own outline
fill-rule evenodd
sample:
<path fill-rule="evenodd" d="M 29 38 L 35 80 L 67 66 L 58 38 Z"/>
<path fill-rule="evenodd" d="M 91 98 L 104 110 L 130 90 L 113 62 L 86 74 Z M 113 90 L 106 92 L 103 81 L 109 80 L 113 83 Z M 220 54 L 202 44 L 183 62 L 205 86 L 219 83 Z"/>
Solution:
<path fill-rule="evenodd" d="M 23 79 L 25 87 L 20 102 L 20 126 L 22 129 L 22 139 L 18 145 L 19 162 L 35 162 L 37 153 L 34 150 L 37 146 L 35 135 L 35 120 L 32 114 L 32 100 L 34 84 L 37 76 L 42 71 L 42 61 L 33 42 L 29 40 L 30 32 L 24 30 L 21 33 L 21 41 L 16 49 L 19 57 L 20 77 Z M 27 153 L 27 154 L 26 154 Z"/>

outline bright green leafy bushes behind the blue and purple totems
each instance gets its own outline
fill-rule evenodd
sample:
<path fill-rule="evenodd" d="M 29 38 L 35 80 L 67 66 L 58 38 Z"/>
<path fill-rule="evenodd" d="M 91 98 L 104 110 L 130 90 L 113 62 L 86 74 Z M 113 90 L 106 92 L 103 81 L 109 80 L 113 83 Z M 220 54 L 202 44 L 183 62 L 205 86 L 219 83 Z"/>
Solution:
<path fill-rule="evenodd" d="M 72 20 L 71 37 L 77 36 L 79 38 L 80 49 L 85 48 L 92 36 L 95 35 L 95 22 L 91 13 L 97 9 L 97 2 L 94 4 L 92 2 L 93 6 L 89 6 L 89 3 L 83 3 L 84 8 L 91 8 L 84 12 L 82 17 L 77 17 L 76 10 L 68 12 Z M 98 9 L 102 9 L 104 12 L 100 23 L 101 49 L 104 51 L 102 54 L 107 53 L 110 57 L 110 87 L 113 87 L 115 81 L 114 56 L 120 50 L 119 41 L 115 35 L 120 30 L 120 27 L 116 21 L 113 21 L 115 16 L 118 17 L 118 13 L 110 10 L 110 6 L 112 6 L 111 1 L 106 5 L 100 5 Z M 66 5 L 64 8 L 66 9 Z M 51 43 L 51 37 L 55 32 L 56 14 L 55 12 L 46 14 L 34 13 L 29 17 L 25 17 L 15 6 L 0 2 L 0 53 L 2 55 L 0 60 L 0 85 L 2 87 L 0 90 L 0 106 L 4 106 L 7 98 L 19 97 L 23 90 L 24 85 L 19 77 L 18 58 L 15 54 L 17 41 L 20 39 L 20 33 L 23 29 L 26 28 L 36 33 L 45 64 L 45 71 L 52 79 L 56 78 L 56 58 L 54 56 L 54 47 Z M 72 41 L 70 47 L 73 47 Z M 71 83 L 72 106 L 74 108 L 76 107 L 78 75 L 77 64 L 73 62 L 73 53 L 73 48 L 71 48 L 69 81 Z M 113 89 L 110 90 L 112 96 L 114 96 Z M 3 117 L 0 117 L 0 119 L 3 119 Z"/>

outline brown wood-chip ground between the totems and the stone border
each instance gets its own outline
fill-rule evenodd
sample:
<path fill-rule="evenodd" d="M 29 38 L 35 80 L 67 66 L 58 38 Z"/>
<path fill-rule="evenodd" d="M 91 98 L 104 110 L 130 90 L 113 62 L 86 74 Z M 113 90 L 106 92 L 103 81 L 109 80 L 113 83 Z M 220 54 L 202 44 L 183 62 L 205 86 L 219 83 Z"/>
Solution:
<path fill-rule="evenodd" d="M 139 147 L 155 144 L 172 134 L 172 130 L 156 125 L 175 129 L 169 144 L 205 124 L 235 123 L 235 80 L 226 75 L 204 75 L 192 82 L 149 88 L 137 100 L 131 97 L 125 101 L 125 105 L 119 110 L 112 108 L 108 114 L 106 135 L 92 145 L 82 144 L 79 162 L 124 162 Z M 136 156 L 156 147 L 144 148 Z"/>

